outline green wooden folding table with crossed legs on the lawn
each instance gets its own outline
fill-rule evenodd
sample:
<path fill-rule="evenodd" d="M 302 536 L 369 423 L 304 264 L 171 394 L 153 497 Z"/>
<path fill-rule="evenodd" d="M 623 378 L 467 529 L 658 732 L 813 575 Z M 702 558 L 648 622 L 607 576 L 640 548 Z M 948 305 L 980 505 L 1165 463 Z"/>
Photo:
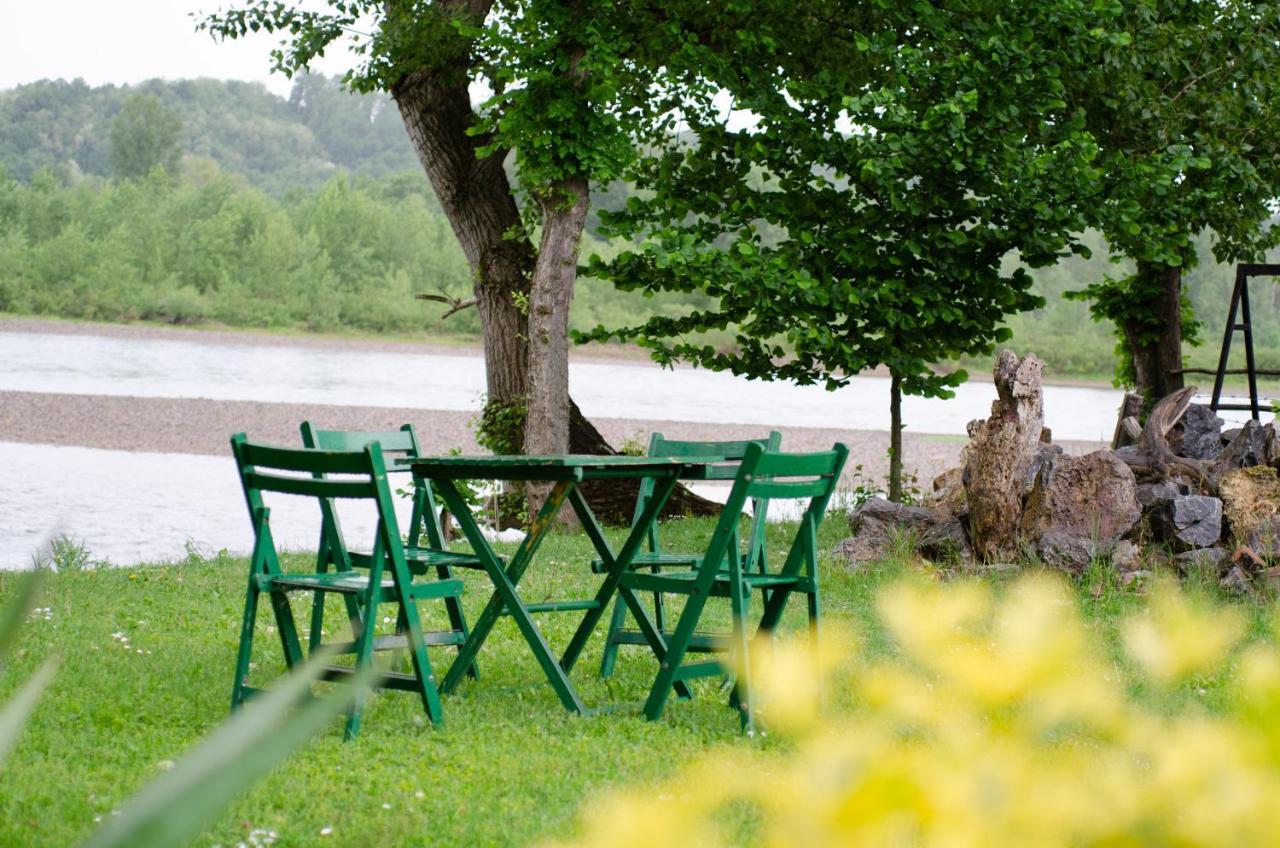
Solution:
<path fill-rule="evenodd" d="M 480 617 L 472 625 L 471 633 L 453 661 L 453 665 L 449 666 L 440 689 L 448 693 L 457 688 L 475 660 L 476 653 L 484 646 L 485 639 L 489 638 L 489 633 L 493 630 L 493 625 L 498 621 L 499 616 L 509 615 L 515 619 L 516 625 L 520 628 L 521 634 L 534 652 L 534 657 L 538 660 L 564 708 L 584 715 L 589 713 L 590 710 L 582 703 L 568 675 L 614 594 L 622 597 L 623 602 L 631 610 L 645 640 L 658 657 L 658 661 L 662 662 L 667 649 L 662 634 L 654 625 L 648 610 L 640 605 L 635 594 L 618 584 L 622 573 L 626 571 L 636 553 L 641 551 L 649 528 L 658 519 L 667 498 L 676 488 L 676 483 L 680 479 L 707 479 L 709 469 L 718 462 L 719 460 L 716 457 L 667 459 L 590 455 L 431 456 L 406 460 L 404 464 L 410 466 L 416 478 L 430 480 L 435 487 L 435 491 L 453 514 L 458 528 L 467 542 L 471 543 L 476 557 L 494 585 L 493 597 L 489 598 Z M 654 482 L 654 492 L 649 503 L 644 512 L 632 523 L 630 533 L 618 551 L 614 551 L 608 539 L 605 539 L 599 521 L 596 521 L 595 515 L 579 489 L 579 483 L 584 480 L 616 479 L 652 479 Z M 530 523 L 524 541 L 506 567 L 494 553 L 489 541 L 480 532 L 480 525 L 476 523 L 475 515 L 458 492 L 457 480 L 525 480 L 552 484 L 545 502 Z M 517 587 L 529 565 L 532 562 L 534 555 L 538 552 L 538 546 L 554 524 L 556 516 L 559 514 L 566 500 L 577 514 L 582 532 L 586 533 L 600 560 L 605 564 L 600 588 L 591 599 L 527 603 L 520 597 Z M 586 571 L 585 566 L 584 571 Z M 573 638 L 570 640 L 568 647 L 564 648 L 564 653 L 557 660 L 547 639 L 538 629 L 532 615 L 535 612 L 576 611 L 584 612 L 582 623 L 573 633 Z M 681 684 L 680 689 L 684 689 L 684 684 Z M 687 696 L 687 689 L 680 692 L 680 694 Z"/>

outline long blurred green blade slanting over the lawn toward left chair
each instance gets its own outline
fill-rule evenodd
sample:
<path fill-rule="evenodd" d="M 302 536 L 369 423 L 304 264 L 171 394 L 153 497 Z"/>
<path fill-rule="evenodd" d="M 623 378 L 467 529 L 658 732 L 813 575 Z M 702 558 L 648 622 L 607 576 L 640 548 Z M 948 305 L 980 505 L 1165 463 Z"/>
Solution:
<path fill-rule="evenodd" d="M 317 653 L 273 690 L 246 703 L 173 771 L 133 795 L 84 848 L 168 848 L 197 836 L 237 794 L 343 712 L 378 675 L 376 669 L 365 669 L 338 692 L 294 710 L 308 697 L 325 660 L 326 655 Z"/>

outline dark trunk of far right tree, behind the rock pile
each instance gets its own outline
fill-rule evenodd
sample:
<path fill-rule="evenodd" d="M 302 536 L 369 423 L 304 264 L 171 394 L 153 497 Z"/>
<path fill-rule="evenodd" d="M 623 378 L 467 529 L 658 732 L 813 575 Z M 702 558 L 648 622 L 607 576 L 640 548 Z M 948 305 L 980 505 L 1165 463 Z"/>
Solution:
<path fill-rule="evenodd" d="M 1151 292 L 1147 315 L 1124 322 L 1125 345 L 1133 361 L 1134 391 L 1148 402 L 1183 387 L 1183 273 L 1180 268 L 1138 263 L 1138 286 Z M 1160 325 L 1158 332 L 1153 330 Z"/>

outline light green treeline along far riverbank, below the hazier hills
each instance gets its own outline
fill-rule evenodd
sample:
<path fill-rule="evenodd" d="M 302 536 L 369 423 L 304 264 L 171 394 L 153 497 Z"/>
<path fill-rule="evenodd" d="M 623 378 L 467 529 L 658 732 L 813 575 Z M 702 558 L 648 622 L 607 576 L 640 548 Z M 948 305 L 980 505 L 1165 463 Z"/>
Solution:
<path fill-rule="evenodd" d="M 604 245 L 596 245 L 600 251 Z M 63 184 L 0 174 L 0 311 L 310 330 L 476 334 L 419 292 L 466 296 L 470 270 L 426 179 L 338 175 L 283 197 L 216 169 Z M 575 324 L 686 302 L 584 281 Z"/>

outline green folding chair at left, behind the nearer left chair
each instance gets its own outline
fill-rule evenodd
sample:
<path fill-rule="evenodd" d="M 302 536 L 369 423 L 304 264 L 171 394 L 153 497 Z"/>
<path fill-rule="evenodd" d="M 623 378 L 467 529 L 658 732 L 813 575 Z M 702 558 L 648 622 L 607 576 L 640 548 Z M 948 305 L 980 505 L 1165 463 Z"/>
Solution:
<path fill-rule="evenodd" d="M 422 456 L 421 443 L 417 441 L 417 432 L 412 424 L 404 424 L 398 430 L 370 432 L 370 430 L 323 430 L 311 421 L 302 421 L 302 444 L 323 451 L 361 451 L 367 444 L 376 442 L 381 448 L 383 461 L 390 470 L 394 459 L 417 459 Z M 407 473 L 407 469 L 403 469 Z M 323 523 L 320 526 L 320 547 L 316 557 L 316 570 L 328 571 L 333 566 L 339 571 L 351 570 L 351 564 L 340 556 L 335 556 L 338 547 L 330 541 L 330 535 L 340 538 L 342 530 L 338 524 L 338 514 L 329 502 L 320 503 Z M 425 538 L 424 538 L 425 537 Z M 410 518 L 408 539 L 404 544 L 404 559 L 408 561 L 410 571 L 415 575 L 424 575 L 434 571 L 442 580 L 453 579 L 453 569 L 479 569 L 484 570 L 480 560 L 472 553 L 458 553 L 449 551 L 444 544 L 444 529 L 440 526 L 440 511 L 435 505 L 435 493 L 426 480 L 413 483 L 413 512 Z M 315 603 L 311 607 L 311 649 L 320 644 L 320 634 L 324 626 L 324 598 L 323 592 L 316 592 Z M 358 619 L 360 610 L 356 608 L 357 599 L 347 596 L 347 617 Z M 449 614 L 449 625 L 457 635 L 457 644 L 461 646 L 468 637 L 467 620 L 462 614 L 462 602 L 458 598 L 445 598 L 445 610 Z M 467 674 L 479 678 L 476 664 L 467 667 Z"/>

